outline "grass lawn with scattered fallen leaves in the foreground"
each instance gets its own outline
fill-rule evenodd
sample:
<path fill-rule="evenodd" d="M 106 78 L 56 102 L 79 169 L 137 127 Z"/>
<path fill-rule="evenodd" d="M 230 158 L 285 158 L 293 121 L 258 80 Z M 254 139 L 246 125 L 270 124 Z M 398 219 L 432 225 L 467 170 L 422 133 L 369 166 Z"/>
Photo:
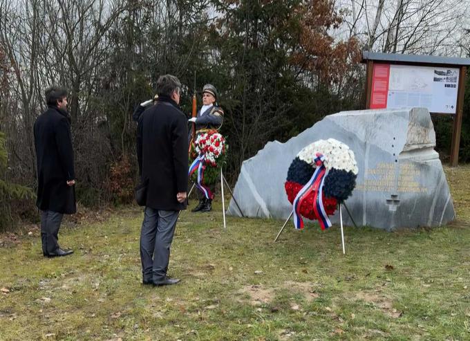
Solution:
<path fill-rule="evenodd" d="M 37 228 L 0 235 L 0 340 L 470 340 L 470 167 L 446 174 L 457 221 L 348 227 L 346 255 L 337 226 L 273 243 L 282 221 L 183 212 L 169 287 L 140 282 L 138 208 L 69 220 L 71 257 L 42 257 Z"/>

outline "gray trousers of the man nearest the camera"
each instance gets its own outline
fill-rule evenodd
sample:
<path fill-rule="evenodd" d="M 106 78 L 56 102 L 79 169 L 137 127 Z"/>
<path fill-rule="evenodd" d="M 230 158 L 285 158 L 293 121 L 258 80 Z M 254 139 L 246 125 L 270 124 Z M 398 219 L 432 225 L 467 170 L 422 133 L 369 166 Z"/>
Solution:
<path fill-rule="evenodd" d="M 140 260 L 144 281 L 160 281 L 167 275 L 177 220 L 178 211 L 145 208 L 140 231 Z"/>

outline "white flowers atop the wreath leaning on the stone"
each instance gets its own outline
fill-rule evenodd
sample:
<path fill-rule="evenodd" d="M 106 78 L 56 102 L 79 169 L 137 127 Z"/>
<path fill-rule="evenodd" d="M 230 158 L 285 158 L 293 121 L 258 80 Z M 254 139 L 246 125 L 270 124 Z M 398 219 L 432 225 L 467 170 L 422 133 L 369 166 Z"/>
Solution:
<path fill-rule="evenodd" d="M 353 172 L 353 174 L 356 175 L 359 172 L 354 152 L 343 142 L 339 142 L 334 138 L 318 140 L 304 147 L 299 151 L 297 156 L 312 165 L 312 167 L 317 167 L 314 163 L 317 153 L 321 153 L 325 156 L 323 164 L 326 169 L 343 169 L 346 172 Z"/>

